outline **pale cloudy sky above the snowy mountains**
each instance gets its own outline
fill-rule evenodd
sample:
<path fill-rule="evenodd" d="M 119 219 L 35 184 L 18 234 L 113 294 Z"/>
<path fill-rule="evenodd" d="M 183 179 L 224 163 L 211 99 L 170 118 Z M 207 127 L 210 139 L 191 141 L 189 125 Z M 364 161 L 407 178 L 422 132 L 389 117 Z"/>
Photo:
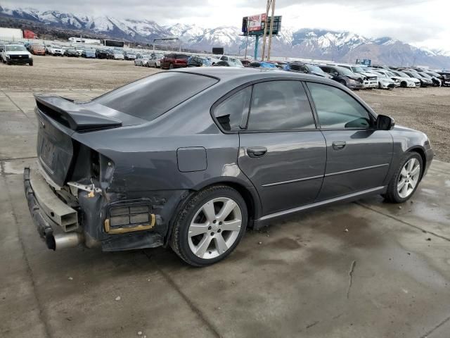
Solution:
<path fill-rule="evenodd" d="M 265 0 L 0 0 L 6 8 L 32 7 L 86 15 L 155 20 L 201 27 L 240 26 L 265 12 Z M 450 0 L 276 0 L 284 26 L 393 37 L 414 46 L 450 51 Z"/>

